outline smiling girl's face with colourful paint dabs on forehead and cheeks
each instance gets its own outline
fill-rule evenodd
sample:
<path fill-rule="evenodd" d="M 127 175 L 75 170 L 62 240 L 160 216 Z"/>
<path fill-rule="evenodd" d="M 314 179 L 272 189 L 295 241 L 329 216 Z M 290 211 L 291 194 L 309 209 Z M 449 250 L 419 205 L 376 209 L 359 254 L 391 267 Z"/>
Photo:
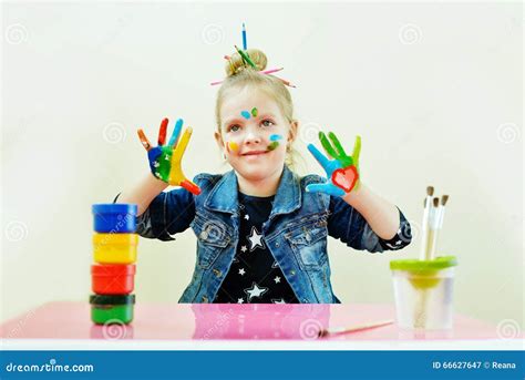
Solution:
<path fill-rule="evenodd" d="M 287 143 L 295 133 L 277 103 L 264 91 L 247 89 L 229 95 L 220 109 L 215 138 L 226 160 L 246 179 L 260 181 L 282 170 Z"/>

